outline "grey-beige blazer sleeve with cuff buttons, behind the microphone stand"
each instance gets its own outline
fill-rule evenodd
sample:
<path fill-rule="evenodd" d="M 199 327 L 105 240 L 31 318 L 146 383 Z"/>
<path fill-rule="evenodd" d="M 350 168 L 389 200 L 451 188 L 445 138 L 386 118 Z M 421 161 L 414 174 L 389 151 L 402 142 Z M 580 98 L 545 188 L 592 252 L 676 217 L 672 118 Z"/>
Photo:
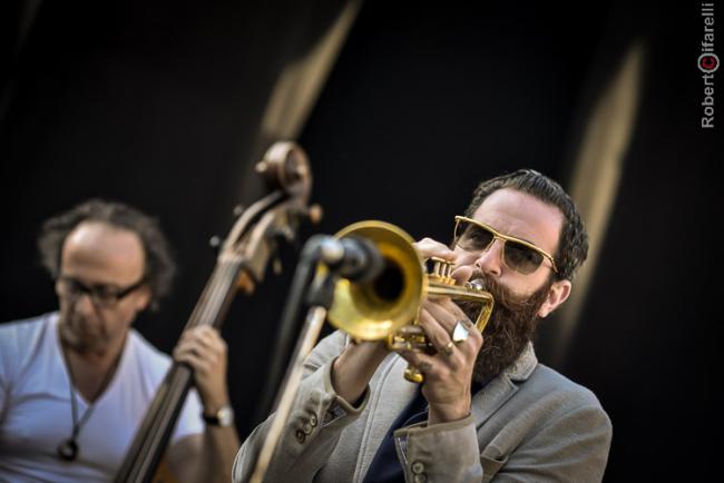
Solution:
<path fill-rule="evenodd" d="M 345 344 L 345 334 L 337 331 L 325 337 L 307 357 L 304 378 L 270 462 L 265 483 L 311 482 L 334 451 L 342 430 L 366 406 L 369 387 L 356 407 L 332 387 L 332 363 Z M 246 482 L 251 477 L 273 417 L 274 414 L 258 425 L 239 448 L 234 462 L 234 482 Z"/>

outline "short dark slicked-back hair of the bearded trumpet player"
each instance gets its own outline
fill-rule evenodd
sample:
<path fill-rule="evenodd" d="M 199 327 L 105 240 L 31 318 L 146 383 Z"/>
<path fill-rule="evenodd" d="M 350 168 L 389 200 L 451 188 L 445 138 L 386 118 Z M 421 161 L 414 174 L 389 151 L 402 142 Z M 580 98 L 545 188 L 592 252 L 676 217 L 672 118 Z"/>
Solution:
<path fill-rule="evenodd" d="M 558 274 L 555 276 L 558 279 L 573 280 L 576 270 L 588 256 L 588 234 L 574 200 L 559 184 L 547 176 L 532 169 L 519 169 L 478 185 L 466 216 L 472 217 L 488 196 L 505 188 L 526 193 L 560 209 L 564 215 L 564 226 L 560 230 L 558 249 L 554 254 L 558 267 Z"/>

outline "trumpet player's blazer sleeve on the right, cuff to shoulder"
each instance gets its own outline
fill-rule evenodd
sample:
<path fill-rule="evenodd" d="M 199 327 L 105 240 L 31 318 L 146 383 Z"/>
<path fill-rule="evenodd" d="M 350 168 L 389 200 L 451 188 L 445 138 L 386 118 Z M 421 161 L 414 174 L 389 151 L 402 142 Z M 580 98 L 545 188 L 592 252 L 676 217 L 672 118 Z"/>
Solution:
<path fill-rule="evenodd" d="M 394 433 L 407 482 L 600 482 L 612 425 L 598 404 L 552 417 L 518 447 L 480 450 L 472 416 Z"/>

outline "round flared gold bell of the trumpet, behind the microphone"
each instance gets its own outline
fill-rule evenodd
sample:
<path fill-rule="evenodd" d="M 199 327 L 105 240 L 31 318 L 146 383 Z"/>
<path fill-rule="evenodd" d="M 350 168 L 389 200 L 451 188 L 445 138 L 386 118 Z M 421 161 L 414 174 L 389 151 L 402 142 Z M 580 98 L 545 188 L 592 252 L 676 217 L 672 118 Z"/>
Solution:
<path fill-rule="evenodd" d="M 384 269 L 368 283 L 340 279 L 327 315 L 330 323 L 354 339 L 382 341 L 414 321 L 425 277 L 410 235 L 389 223 L 368 220 L 343 228 L 335 237 L 369 239 L 384 259 Z"/>

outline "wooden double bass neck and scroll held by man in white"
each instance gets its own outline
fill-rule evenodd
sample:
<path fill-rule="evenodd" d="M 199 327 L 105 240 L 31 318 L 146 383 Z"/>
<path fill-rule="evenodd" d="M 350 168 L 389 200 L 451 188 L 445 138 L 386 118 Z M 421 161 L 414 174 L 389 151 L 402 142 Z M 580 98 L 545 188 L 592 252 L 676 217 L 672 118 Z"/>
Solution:
<path fill-rule="evenodd" d="M 306 154 L 296 144 L 272 145 L 256 172 L 268 193 L 237 214 L 185 329 L 199 325 L 221 328 L 236 292 L 251 294 L 263 280 L 280 240 L 293 240 L 301 221 L 321 217 L 319 207 L 309 206 L 312 172 Z M 126 453 L 117 483 L 153 481 L 192 384 L 190 367 L 174 363 Z"/>

